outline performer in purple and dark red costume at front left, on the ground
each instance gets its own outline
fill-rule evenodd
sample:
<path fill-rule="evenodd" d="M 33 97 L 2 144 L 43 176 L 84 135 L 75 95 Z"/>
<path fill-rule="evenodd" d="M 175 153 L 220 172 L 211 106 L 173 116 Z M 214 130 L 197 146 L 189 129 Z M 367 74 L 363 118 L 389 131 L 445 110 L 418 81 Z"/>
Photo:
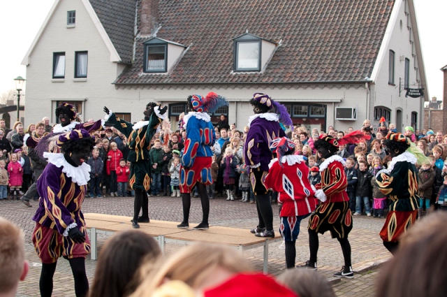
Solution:
<path fill-rule="evenodd" d="M 61 153 L 45 152 L 48 159 L 37 181 L 41 195 L 33 221 L 33 243 L 42 262 L 41 296 L 51 296 L 57 259 L 68 259 L 75 280 L 76 296 L 86 296 L 89 282 L 85 257 L 90 242 L 85 230 L 81 205 L 90 179 L 90 166 L 85 163 L 94 140 L 84 129 L 61 134 L 57 140 Z"/>

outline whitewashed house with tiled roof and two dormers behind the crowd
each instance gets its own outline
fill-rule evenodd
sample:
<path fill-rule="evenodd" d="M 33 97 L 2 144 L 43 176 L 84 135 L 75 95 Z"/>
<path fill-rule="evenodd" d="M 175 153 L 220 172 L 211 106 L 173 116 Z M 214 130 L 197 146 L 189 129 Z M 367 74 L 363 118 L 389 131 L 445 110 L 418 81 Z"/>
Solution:
<path fill-rule="evenodd" d="M 239 129 L 255 92 L 309 128 L 419 129 L 430 98 L 413 0 L 56 0 L 22 64 L 26 123 L 56 122 L 66 101 L 131 122 L 157 101 L 175 122 L 189 94 L 213 91 L 230 102 L 214 119 Z"/>

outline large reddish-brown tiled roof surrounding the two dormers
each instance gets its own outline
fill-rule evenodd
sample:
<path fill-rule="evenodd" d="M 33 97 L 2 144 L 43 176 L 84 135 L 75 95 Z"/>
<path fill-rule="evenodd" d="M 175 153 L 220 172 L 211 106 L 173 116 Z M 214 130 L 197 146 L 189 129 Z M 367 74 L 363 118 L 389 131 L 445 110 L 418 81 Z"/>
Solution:
<path fill-rule="evenodd" d="M 115 83 L 358 81 L 374 67 L 394 1 L 160 0 L 157 37 L 192 46 L 169 74 L 135 63 Z M 233 41 L 248 30 L 282 45 L 263 73 L 233 73 Z"/>

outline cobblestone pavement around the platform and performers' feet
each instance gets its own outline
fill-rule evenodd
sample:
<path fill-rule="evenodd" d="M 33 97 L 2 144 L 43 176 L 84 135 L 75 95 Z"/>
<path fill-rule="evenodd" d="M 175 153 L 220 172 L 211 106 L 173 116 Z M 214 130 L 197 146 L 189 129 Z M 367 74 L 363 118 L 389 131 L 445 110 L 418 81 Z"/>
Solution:
<path fill-rule="evenodd" d="M 190 224 L 198 223 L 202 217 L 202 210 L 199 198 L 191 198 Z M 25 207 L 20 201 L 0 201 L 0 216 L 10 219 L 20 226 L 25 233 L 26 256 L 31 263 L 29 274 L 24 282 L 20 283 L 17 296 L 39 296 L 38 280 L 41 273 L 41 264 L 34 252 L 31 242 L 34 222 L 31 217 L 36 211 L 36 201 L 31 201 L 32 208 Z M 276 203 L 272 205 L 274 214 L 278 214 Z M 133 212 L 133 197 L 107 197 L 107 198 L 87 198 L 82 205 L 82 211 L 96 212 L 109 215 L 131 216 Z M 150 197 L 149 216 L 151 219 L 180 222 L 182 220 L 181 198 L 171 197 Z M 352 248 L 352 263 L 354 271 L 365 271 L 378 263 L 386 261 L 390 254 L 383 247 L 379 238 L 379 231 L 383 225 L 383 219 L 373 217 L 354 217 L 353 230 L 349 236 Z M 87 222 L 88 224 L 88 222 Z M 257 224 L 256 205 L 250 203 L 240 203 L 240 201 L 226 201 L 224 198 L 216 198 L 210 203 L 210 224 L 212 226 L 228 226 L 242 229 L 254 228 Z M 274 228 L 277 231 L 279 219 L 275 217 Z M 107 238 L 98 236 L 98 247 L 101 253 L 101 246 Z M 309 247 L 307 236 L 307 221 L 301 224 L 301 233 L 297 240 L 297 265 L 309 259 Z M 279 275 L 285 270 L 284 248 L 280 247 L 281 242 L 270 245 L 269 248 L 269 273 Z M 172 254 L 182 248 L 182 245 L 166 244 L 166 254 Z M 263 250 L 261 247 L 250 249 L 244 256 L 252 263 L 256 270 L 262 270 Z M 320 249 L 318 251 L 318 271 L 323 273 L 333 282 L 339 296 L 372 296 L 372 295 L 352 295 L 355 293 L 351 289 L 344 291 L 343 288 L 351 287 L 353 283 L 368 279 L 373 282 L 374 273 L 357 274 L 353 280 L 338 280 L 332 277 L 332 273 L 338 271 L 343 265 L 342 249 L 337 240 L 332 240 L 330 234 L 320 236 Z M 89 282 L 93 281 L 96 261 L 92 261 L 89 256 L 86 261 L 87 277 Z M 371 276 L 369 276 L 371 274 Z M 61 259 L 57 264 L 54 274 L 53 296 L 75 296 L 73 289 L 73 277 L 68 261 Z"/>

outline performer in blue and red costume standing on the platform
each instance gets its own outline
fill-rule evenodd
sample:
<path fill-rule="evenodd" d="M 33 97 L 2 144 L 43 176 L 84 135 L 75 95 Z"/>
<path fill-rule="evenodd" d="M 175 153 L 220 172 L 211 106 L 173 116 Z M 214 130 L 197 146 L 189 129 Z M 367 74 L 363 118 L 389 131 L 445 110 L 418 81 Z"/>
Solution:
<path fill-rule="evenodd" d="M 203 219 L 193 229 L 205 230 L 209 228 L 210 199 L 207 184 L 212 184 L 211 163 L 212 150 L 216 140 L 214 127 L 210 115 L 217 108 L 228 105 L 227 101 L 210 92 L 206 97 L 192 95 L 188 97 L 189 113 L 184 116 L 186 127 L 186 141 L 180 169 L 180 192 L 182 193 L 183 221 L 178 228 L 189 228 L 189 209 L 191 208 L 191 189 L 197 184 L 198 194 L 202 202 Z"/>

